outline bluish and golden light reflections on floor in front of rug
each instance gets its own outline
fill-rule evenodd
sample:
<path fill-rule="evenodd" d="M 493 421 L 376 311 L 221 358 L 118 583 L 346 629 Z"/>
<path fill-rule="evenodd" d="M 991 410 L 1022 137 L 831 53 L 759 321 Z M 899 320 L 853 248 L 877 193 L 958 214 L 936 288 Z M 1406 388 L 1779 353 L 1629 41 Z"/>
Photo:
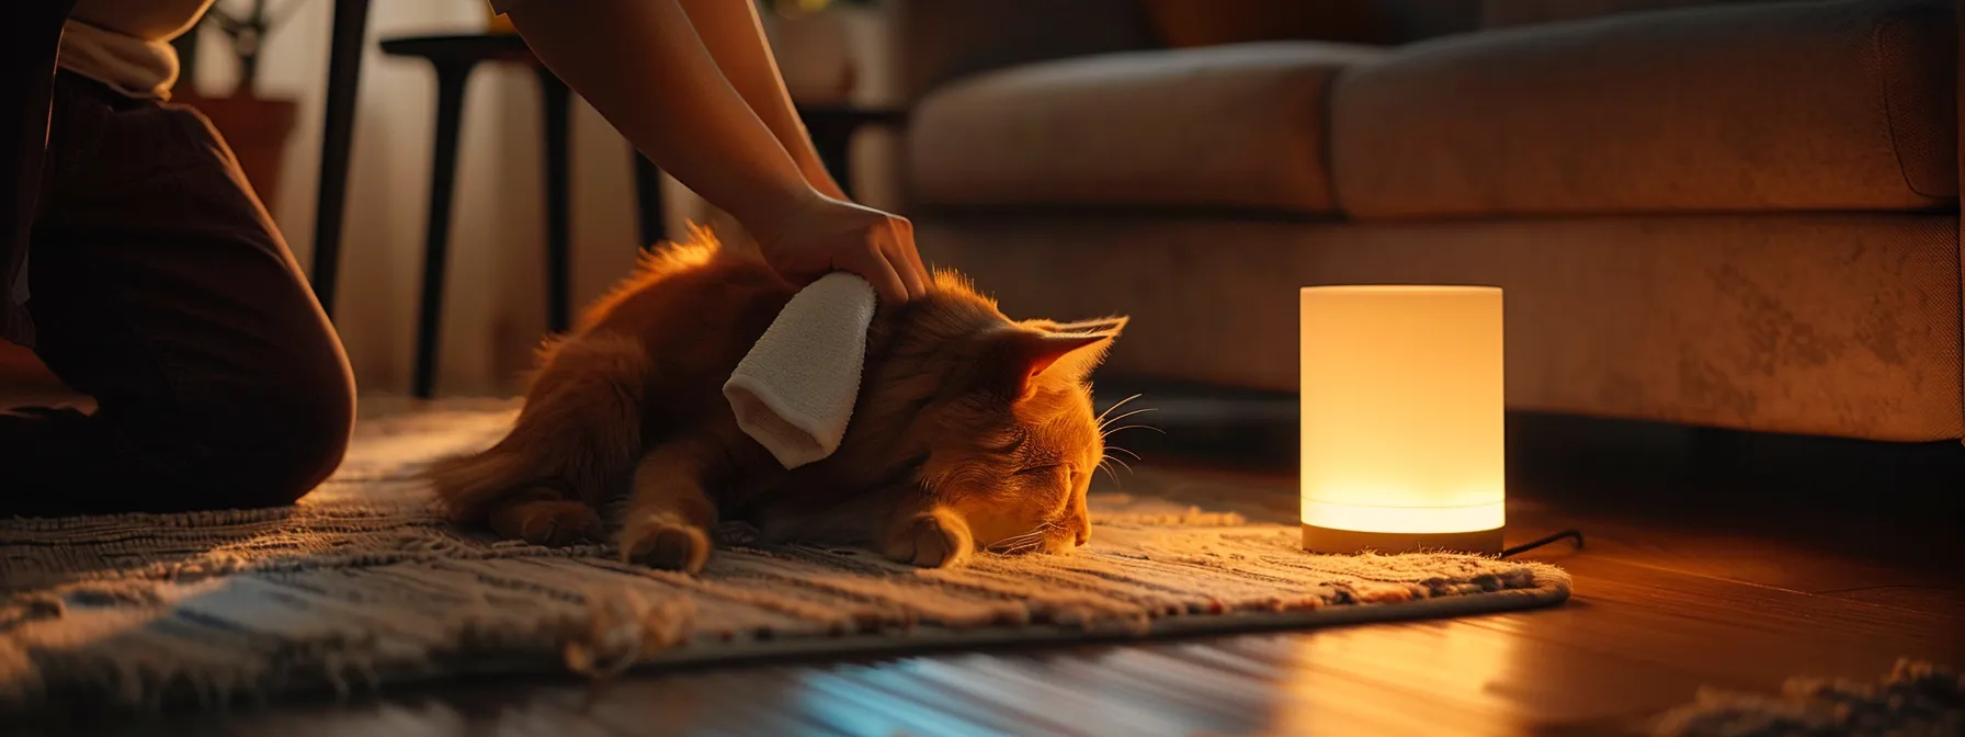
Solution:
<path fill-rule="evenodd" d="M 1438 733 L 1442 719 L 1458 719 L 1452 733 L 1523 727 L 1497 719 L 1507 709 L 1495 694 L 1525 676 L 1519 639 L 1452 623 L 1397 629 L 1395 637 L 1358 627 L 1010 658 L 896 658 L 804 672 L 792 692 L 800 711 L 855 735 L 1000 733 L 994 713 L 1049 715 L 1061 733 L 1098 725 L 1114 735 L 1322 735 L 1362 723 Z M 1427 684 L 1432 708 L 1385 709 L 1411 684 Z M 1368 694 L 1385 700 L 1360 698 Z"/>

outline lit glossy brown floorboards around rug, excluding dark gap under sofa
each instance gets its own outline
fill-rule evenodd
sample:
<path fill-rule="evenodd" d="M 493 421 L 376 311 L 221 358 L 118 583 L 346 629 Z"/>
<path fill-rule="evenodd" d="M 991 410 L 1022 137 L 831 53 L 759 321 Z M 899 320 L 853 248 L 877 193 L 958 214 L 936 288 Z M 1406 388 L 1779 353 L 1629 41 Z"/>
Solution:
<path fill-rule="evenodd" d="M 1220 472 L 1195 472 L 1220 474 Z M 1289 478 L 1240 472 L 1279 503 Z M 927 652 L 641 676 L 481 682 L 350 704 L 75 725 L 234 735 L 1601 735 L 1702 686 L 1875 678 L 1898 656 L 1965 662 L 1957 540 L 1875 560 L 1796 540 L 1511 509 L 1511 542 L 1560 527 L 1584 550 L 1562 607 L 1452 621 L 1140 645 Z M 1855 546 L 1855 548 L 1851 548 Z M 1839 550 L 1841 548 L 1841 550 Z M 1959 556 L 1941 558 L 1951 552 Z M 59 733 L 59 731 L 51 731 Z"/>

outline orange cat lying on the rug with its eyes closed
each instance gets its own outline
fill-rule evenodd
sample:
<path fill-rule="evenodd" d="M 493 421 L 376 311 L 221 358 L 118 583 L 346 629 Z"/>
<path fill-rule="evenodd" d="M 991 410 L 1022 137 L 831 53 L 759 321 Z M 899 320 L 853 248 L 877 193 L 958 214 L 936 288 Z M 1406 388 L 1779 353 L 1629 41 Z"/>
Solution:
<path fill-rule="evenodd" d="M 601 537 L 597 509 L 625 493 L 623 558 L 688 572 L 719 521 L 918 566 L 1085 544 L 1104 458 L 1087 373 L 1126 318 L 1014 322 L 937 271 L 874 314 L 839 450 L 784 470 L 719 389 L 794 293 L 703 230 L 664 246 L 540 350 L 503 440 L 426 478 L 456 523 L 534 544 Z"/>

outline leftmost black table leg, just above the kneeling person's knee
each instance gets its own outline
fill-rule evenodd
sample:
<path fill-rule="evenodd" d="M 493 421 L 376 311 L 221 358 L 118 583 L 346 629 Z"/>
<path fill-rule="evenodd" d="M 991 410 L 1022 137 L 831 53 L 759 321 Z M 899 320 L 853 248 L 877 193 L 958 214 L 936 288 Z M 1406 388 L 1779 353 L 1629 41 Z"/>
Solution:
<path fill-rule="evenodd" d="M 356 136 L 356 90 L 369 0 L 334 0 L 328 41 L 328 120 L 320 134 L 320 189 L 314 193 L 314 299 L 334 316 L 334 281 L 342 265 L 342 210 L 348 204 L 348 155 Z"/>

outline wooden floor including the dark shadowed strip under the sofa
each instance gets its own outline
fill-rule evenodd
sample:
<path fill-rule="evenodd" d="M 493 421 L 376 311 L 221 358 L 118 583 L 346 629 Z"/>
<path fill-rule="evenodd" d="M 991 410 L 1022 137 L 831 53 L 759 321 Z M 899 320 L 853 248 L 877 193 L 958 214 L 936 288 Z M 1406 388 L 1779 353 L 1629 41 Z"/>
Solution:
<path fill-rule="evenodd" d="M 1521 423 L 1533 428 L 1511 436 L 1523 456 L 1509 482 L 1511 544 L 1564 527 L 1588 535 L 1582 550 L 1527 554 L 1574 574 L 1574 599 L 1556 609 L 597 686 L 472 682 L 29 733 L 1605 735 L 1706 686 L 1875 678 L 1898 656 L 1965 666 L 1965 448 L 1774 440 L 1786 450 L 1768 452 L 1751 436 L 1694 432 L 1676 446 L 1611 432 L 1600 452 L 1578 450 L 1564 423 Z M 1275 464 L 1159 464 L 1230 476 L 1248 501 L 1293 503 L 1293 476 Z"/>

